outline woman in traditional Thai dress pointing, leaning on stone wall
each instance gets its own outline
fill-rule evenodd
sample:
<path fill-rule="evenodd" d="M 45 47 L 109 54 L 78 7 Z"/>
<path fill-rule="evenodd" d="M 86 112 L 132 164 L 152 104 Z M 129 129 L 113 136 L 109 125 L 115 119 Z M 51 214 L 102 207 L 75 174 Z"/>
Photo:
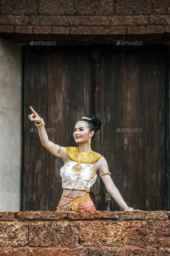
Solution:
<path fill-rule="evenodd" d="M 110 177 L 111 173 L 104 156 L 91 150 L 90 143 L 101 126 L 98 117 L 88 115 L 76 123 L 73 136 L 79 147 L 61 147 L 48 140 L 43 119 L 31 106 L 30 109 L 33 113 L 29 115 L 29 119 L 35 122 L 38 128 L 43 147 L 54 156 L 60 157 L 64 163 L 60 169 L 63 193 L 57 211 L 96 211 L 89 192 L 90 187 L 95 183 L 98 171 L 108 193 L 124 211 L 139 211 L 128 207 L 123 200 Z"/>

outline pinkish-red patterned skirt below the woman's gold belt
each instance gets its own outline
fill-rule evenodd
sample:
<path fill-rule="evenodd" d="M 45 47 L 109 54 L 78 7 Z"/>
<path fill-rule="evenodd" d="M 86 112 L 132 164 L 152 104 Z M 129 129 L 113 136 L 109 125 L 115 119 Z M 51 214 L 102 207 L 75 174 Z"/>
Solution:
<path fill-rule="evenodd" d="M 64 194 L 62 194 L 62 197 L 63 196 L 64 196 Z M 73 197 L 63 197 L 63 198 L 62 197 L 61 197 L 60 202 L 59 202 L 58 205 L 61 205 L 61 204 L 65 203 L 65 202 L 69 201 L 71 198 L 73 198 Z M 82 196 L 82 197 L 84 197 L 84 196 Z M 66 203 L 63 206 L 58 207 L 56 211 L 57 212 L 60 212 L 60 211 L 72 211 L 72 209 L 71 209 L 72 202 L 73 201 L 70 201 L 69 203 Z M 86 202 L 79 203 L 77 211 L 96 211 L 96 207 L 95 207 L 93 201 L 90 198 Z"/>

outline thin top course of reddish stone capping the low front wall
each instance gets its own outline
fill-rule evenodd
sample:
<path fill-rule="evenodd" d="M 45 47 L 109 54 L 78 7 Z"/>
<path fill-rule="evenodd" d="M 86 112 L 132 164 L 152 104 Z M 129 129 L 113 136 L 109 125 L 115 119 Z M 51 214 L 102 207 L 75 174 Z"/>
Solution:
<path fill-rule="evenodd" d="M 1 220 L 31 221 L 31 220 L 169 220 L 168 211 L 18 211 L 0 212 Z"/>

